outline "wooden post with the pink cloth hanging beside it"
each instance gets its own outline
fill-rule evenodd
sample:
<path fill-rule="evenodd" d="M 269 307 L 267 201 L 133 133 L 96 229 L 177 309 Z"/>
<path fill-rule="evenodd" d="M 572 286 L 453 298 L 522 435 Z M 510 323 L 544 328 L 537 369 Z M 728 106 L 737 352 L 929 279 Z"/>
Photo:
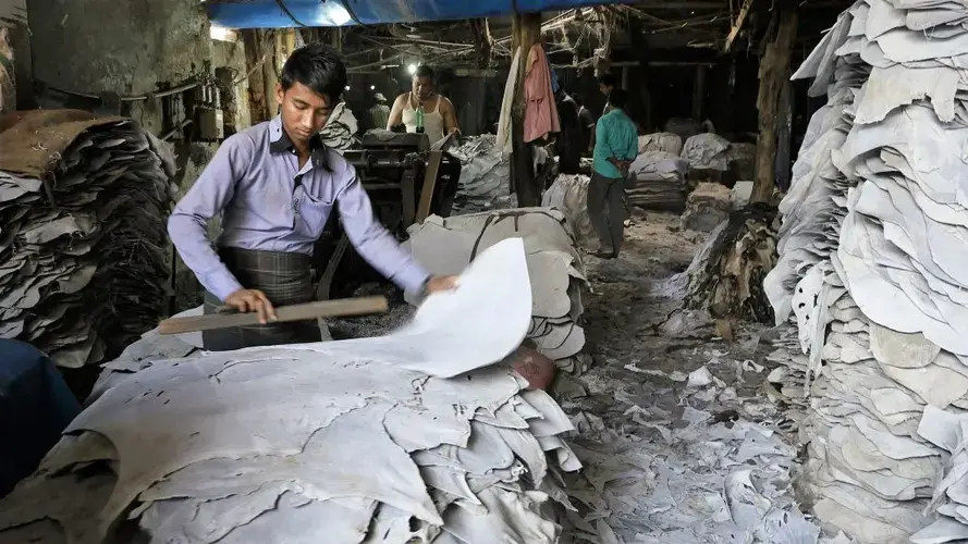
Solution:
<path fill-rule="evenodd" d="M 527 74 L 528 51 L 541 42 L 541 14 L 520 13 L 512 20 L 512 49 L 520 48 L 520 65 L 517 72 L 517 86 L 514 90 L 514 104 L 511 111 L 511 180 L 517 194 L 518 206 L 526 208 L 541 206 L 541 187 L 535 180 L 535 164 L 530 144 L 525 144 L 525 75 Z"/>

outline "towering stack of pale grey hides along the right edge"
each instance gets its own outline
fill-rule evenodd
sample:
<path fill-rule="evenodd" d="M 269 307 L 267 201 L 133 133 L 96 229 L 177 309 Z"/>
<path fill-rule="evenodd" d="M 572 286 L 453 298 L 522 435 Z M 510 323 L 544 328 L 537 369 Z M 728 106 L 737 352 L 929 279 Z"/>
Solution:
<path fill-rule="evenodd" d="M 968 9 L 857 2 L 805 61 L 810 122 L 767 280 L 813 511 L 863 543 L 968 539 Z"/>

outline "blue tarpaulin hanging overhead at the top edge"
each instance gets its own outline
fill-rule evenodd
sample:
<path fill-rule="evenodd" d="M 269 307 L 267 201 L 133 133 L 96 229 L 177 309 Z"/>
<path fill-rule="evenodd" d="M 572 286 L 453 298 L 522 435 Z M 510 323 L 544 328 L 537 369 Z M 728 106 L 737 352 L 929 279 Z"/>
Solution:
<path fill-rule="evenodd" d="M 382 25 L 461 21 L 601 5 L 602 0 L 209 0 L 212 24 L 226 28 Z M 284 8 L 284 9 L 283 9 Z M 289 13 L 286 13 L 286 11 Z"/>

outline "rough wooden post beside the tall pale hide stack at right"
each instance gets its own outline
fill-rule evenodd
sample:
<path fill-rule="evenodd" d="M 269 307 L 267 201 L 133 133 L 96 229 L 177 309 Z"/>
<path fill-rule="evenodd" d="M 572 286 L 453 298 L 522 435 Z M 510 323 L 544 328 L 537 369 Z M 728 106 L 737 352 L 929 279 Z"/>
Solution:
<path fill-rule="evenodd" d="M 797 12 L 793 1 L 776 2 L 773 12 L 776 33 L 769 38 L 760 59 L 760 89 L 757 96 L 759 135 L 757 136 L 757 175 L 750 202 L 768 202 L 773 196 L 776 160 L 776 121 L 781 95 L 789 79 L 789 57 L 797 37 Z"/>

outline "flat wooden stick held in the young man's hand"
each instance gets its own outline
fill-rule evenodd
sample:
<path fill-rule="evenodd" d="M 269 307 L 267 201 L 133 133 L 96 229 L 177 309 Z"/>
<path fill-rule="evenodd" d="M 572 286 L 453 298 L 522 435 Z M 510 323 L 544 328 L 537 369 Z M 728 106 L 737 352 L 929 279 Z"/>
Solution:
<path fill-rule="evenodd" d="M 273 323 L 287 321 L 305 321 L 317 318 L 348 318 L 353 316 L 368 316 L 383 313 L 390 309 L 387 297 L 358 297 L 341 298 L 336 300 L 321 300 L 304 305 L 281 306 L 275 309 L 279 318 Z M 232 326 L 250 326 L 259 324 L 259 316 L 247 313 L 211 313 L 206 316 L 193 316 L 191 318 L 170 318 L 158 324 L 161 334 L 182 334 L 197 331 L 210 331 L 212 329 L 228 329 Z"/>

